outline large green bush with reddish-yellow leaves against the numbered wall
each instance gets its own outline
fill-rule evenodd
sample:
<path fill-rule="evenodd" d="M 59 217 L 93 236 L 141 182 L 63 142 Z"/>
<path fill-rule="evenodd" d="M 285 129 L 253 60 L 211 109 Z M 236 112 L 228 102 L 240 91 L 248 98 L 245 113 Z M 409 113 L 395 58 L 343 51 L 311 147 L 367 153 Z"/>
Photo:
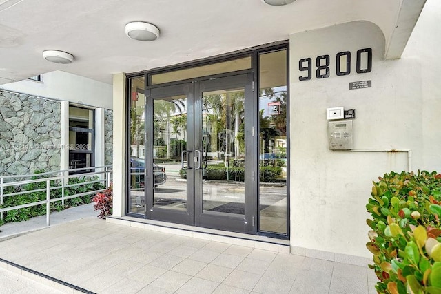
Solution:
<path fill-rule="evenodd" d="M 366 208 L 378 293 L 441 293 L 441 174 L 391 172 Z"/>

